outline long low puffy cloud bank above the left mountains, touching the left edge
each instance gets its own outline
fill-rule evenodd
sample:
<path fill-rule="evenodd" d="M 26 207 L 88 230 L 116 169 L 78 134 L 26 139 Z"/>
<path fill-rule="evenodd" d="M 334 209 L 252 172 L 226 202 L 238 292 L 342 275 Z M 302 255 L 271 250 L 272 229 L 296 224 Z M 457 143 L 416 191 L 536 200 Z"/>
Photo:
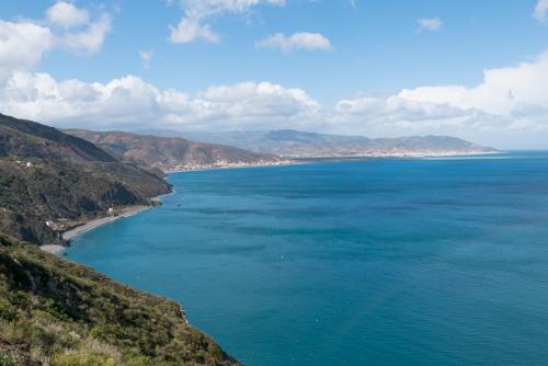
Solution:
<path fill-rule="evenodd" d="M 109 83 L 56 81 L 15 72 L 0 92 L 3 113 L 58 126 L 129 125 L 231 129 L 310 121 L 321 105 L 300 89 L 270 82 L 212 87 L 191 96 L 127 76 Z"/>

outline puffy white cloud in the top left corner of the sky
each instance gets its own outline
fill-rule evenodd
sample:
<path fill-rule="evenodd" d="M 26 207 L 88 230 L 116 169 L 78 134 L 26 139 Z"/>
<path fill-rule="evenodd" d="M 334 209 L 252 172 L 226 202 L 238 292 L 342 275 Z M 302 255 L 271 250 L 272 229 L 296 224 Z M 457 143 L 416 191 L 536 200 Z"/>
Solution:
<path fill-rule="evenodd" d="M 76 19 L 67 18 L 76 15 Z M 85 15 L 83 15 L 85 14 Z M 55 26 L 61 26 L 61 31 Z M 69 30 L 73 26 L 81 30 Z M 96 53 L 111 28 L 111 18 L 102 14 L 90 22 L 88 12 L 67 2 L 57 2 L 46 12 L 46 22 L 0 21 L 0 79 L 12 71 L 32 70 L 54 49 Z"/>

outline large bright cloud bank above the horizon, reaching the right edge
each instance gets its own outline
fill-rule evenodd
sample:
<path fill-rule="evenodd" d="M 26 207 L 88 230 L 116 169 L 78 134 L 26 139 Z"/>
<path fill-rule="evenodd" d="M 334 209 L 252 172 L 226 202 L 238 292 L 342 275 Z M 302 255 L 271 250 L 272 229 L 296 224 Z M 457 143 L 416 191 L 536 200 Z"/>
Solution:
<path fill-rule="evenodd" d="M 487 70 L 473 88 L 422 87 L 346 99 L 330 123 L 369 135 L 449 134 L 491 144 L 514 139 L 509 144 L 515 146 L 527 134 L 536 139 L 548 133 L 547 80 L 548 52 L 534 61 Z"/>

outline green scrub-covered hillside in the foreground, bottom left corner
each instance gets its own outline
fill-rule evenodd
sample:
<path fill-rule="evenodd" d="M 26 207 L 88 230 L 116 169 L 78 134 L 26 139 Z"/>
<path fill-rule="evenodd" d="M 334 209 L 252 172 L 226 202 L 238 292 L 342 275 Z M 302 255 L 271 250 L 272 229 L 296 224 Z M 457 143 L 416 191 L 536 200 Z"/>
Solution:
<path fill-rule="evenodd" d="M 0 235 L 0 365 L 237 365 L 181 307 Z"/>

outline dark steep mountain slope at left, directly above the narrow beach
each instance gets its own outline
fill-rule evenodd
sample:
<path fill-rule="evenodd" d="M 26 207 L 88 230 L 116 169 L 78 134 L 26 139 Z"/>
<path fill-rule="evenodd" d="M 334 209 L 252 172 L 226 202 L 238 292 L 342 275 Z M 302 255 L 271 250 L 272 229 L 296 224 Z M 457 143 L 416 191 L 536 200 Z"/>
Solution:
<path fill-rule="evenodd" d="M 0 231 L 60 243 L 55 228 L 149 205 L 169 193 L 161 173 L 35 122 L 0 115 Z"/>

